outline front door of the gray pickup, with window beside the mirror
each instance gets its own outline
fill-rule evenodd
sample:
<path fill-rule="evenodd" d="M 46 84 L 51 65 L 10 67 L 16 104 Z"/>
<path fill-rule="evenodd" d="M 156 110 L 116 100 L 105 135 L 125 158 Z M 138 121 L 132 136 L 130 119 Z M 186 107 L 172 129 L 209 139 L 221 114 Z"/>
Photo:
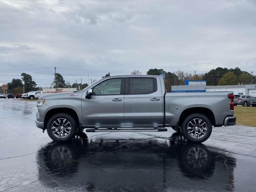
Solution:
<path fill-rule="evenodd" d="M 86 127 L 120 127 L 124 125 L 124 81 L 111 78 L 94 88 L 90 99 L 82 96 L 82 116 Z"/>

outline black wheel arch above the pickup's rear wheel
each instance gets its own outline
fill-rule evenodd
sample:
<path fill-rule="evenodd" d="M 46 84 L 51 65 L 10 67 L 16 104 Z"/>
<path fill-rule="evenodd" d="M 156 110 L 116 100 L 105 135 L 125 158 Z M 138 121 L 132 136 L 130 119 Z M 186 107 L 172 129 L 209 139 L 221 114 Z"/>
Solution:
<path fill-rule="evenodd" d="M 206 116 L 210 120 L 212 125 L 214 125 L 214 126 L 216 125 L 214 113 L 212 112 L 212 110 L 210 110 L 209 108 L 205 108 L 205 107 L 192 107 L 192 108 L 185 109 L 180 114 L 179 125 L 182 124 L 182 122 L 184 121 L 184 119 L 187 116 L 189 116 L 191 114 L 195 114 L 195 113 L 199 113 L 199 114 Z"/>

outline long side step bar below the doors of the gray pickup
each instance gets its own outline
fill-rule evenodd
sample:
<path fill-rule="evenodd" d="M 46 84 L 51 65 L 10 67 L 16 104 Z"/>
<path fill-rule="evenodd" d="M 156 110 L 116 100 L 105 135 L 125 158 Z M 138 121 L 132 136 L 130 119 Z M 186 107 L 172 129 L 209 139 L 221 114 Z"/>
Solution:
<path fill-rule="evenodd" d="M 166 128 L 98 128 L 98 129 L 86 129 L 86 132 L 148 132 L 148 131 L 167 131 Z"/>

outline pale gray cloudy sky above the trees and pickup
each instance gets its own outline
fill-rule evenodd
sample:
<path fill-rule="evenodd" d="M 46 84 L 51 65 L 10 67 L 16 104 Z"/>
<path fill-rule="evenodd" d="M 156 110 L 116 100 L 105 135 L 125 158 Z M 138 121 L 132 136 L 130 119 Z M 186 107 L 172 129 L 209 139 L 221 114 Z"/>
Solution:
<path fill-rule="evenodd" d="M 150 68 L 256 74 L 256 1 L 0 1 L 0 84 Z M 88 76 L 89 75 L 89 76 Z"/>

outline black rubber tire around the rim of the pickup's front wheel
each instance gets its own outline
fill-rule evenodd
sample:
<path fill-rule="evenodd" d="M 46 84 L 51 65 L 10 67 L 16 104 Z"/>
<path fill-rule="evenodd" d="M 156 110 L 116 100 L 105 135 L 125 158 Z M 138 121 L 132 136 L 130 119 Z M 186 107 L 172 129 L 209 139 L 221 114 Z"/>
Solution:
<path fill-rule="evenodd" d="M 58 138 L 52 132 L 52 124 L 54 123 L 55 120 L 58 120 L 59 118 L 64 118 L 64 119 L 66 119 L 66 120 L 68 120 L 70 122 L 71 130 L 70 130 L 68 136 L 66 136 L 64 138 Z M 70 116 L 69 114 L 66 114 L 66 113 L 58 113 L 58 114 L 52 116 L 49 119 L 48 123 L 47 123 L 47 133 L 48 133 L 49 137 L 52 140 L 56 141 L 56 142 L 68 142 L 68 141 L 71 141 L 76 136 L 77 129 L 78 129 L 78 126 L 76 125 L 76 121 L 74 120 L 74 118 L 72 116 Z"/>

